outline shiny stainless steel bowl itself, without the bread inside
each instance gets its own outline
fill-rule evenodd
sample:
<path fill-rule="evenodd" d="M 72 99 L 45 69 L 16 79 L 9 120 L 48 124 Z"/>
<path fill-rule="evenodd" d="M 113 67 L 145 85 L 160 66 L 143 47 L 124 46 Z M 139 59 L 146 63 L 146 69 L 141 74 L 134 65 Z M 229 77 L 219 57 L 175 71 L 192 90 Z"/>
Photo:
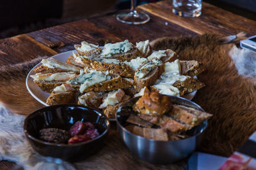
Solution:
<path fill-rule="evenodd" d="M 195 108 L 196 110 L 204 111 L 198 104 L 192 101 L 182 97 L 169 97 L 172 99 L 173 104 L 182 104 Z M 134 155 L 153 164 L 170 164 L 188 157 L 189 154 L 195 151 L 196 146 L 200 143 L 200 136 L 207 127 L 207 121 L 205 121 L 203 124 L 188 131 L 189 135 L 191 135 L 190 138 L 181 139 L 179 141 L 156 141 L 154 139 L 146 139 L 132 134 L 124 128 L 126 119 L 129 117 L 129 112 L 131 111 L 129 105 L 131 106 L 132 103 L 118 108 L 116 114 L 118 132 L 127 148 L 129 148 Z"/>

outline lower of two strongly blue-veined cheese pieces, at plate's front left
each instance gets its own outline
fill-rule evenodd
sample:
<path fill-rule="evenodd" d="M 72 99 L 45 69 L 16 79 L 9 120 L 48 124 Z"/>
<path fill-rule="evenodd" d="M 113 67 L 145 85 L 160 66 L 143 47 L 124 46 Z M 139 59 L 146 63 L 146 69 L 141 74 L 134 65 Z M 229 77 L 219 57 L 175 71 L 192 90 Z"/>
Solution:
<path fill-rule="evenodd" d="M 84 92 L 85 89 L 88 87 L 95 85 L 97 83 L 101 83 L 102 81 L 110 80 L 111 76 L 109 76 L 108 71 L 93 71 L 91 70 L 90 73 L 84 74 L 83 71 L 80 72 L 79 76 L 68 80 L 68 83 L 71 85 L 78 85 L 81 84 L 79 91 L 81 93 Z"/>

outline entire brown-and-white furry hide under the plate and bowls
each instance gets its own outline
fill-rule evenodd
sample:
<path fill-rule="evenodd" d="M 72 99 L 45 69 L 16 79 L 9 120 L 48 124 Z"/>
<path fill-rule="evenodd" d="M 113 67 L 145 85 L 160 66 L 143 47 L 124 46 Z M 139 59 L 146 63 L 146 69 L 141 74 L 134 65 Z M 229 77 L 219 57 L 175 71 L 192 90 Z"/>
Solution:
<path fill-rule="evenodd" d="M 228 156 L 256 130 L 256 55 L 234 44 L 223 45 L 220 39 L 217 35 L 204 34 L 156 39 L 152 45 L 155 50 L 171 48 L 181 59 L 198 60 L 205 65 L 206 71 L 198 79 L 206 87 L 198 90 L 193 101 L 214 116 L 209 120 L 199 149 Z M 133 157 L 122 143 L 115 124 L 111 127 L 104 148 L 83 162 L 58 164 L 56 159 L 35 153 L 25 139 L 22 122 L 24 115 L 42 108 L 42 104 L 30 96 L 25 85 L 26 75 L 40 60 L 42 57 L 0 69 L 2 160 L 12 160 L 25 169 L 184 169 L 186 160 L 159 166 Z"/>

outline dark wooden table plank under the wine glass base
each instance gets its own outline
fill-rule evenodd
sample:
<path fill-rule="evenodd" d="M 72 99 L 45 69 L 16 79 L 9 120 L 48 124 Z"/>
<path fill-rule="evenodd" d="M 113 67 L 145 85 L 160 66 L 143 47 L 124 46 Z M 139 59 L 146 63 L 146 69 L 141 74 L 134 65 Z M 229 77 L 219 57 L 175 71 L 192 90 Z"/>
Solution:
<path fill-rule="evenodd" d="M 150 15 L 150 13 L 148 14 Z M 173 22 L 168 22 L 168 20 L 159 18 L 156 15 L 150 15 L 150 21 L 141 25 L 129 25 L 118 22 L 116 15 L 93 17 L 88 18 L 88 20 L 122 39 L 129 39 L 132 43 L 163 36 L 196 35 L 195 32 L 173 24 Z"/>

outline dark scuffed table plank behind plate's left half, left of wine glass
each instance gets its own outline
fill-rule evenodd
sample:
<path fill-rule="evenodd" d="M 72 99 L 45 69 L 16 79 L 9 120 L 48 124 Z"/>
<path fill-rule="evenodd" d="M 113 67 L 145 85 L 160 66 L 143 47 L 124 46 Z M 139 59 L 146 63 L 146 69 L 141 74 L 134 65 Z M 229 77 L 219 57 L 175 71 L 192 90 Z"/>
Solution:
<path fill-rule="evenodd" d="M 109 39 L 111 41 L 121 40 L 115 36 L 115 34 L 111 34 L 87 20 L 79 20 L 42 29 L 40 31 L 30 32 L 28 35 L 57 52 L 74 50 L 73 45 L 81 41 L 98 43 L 102 39 Z"/>

